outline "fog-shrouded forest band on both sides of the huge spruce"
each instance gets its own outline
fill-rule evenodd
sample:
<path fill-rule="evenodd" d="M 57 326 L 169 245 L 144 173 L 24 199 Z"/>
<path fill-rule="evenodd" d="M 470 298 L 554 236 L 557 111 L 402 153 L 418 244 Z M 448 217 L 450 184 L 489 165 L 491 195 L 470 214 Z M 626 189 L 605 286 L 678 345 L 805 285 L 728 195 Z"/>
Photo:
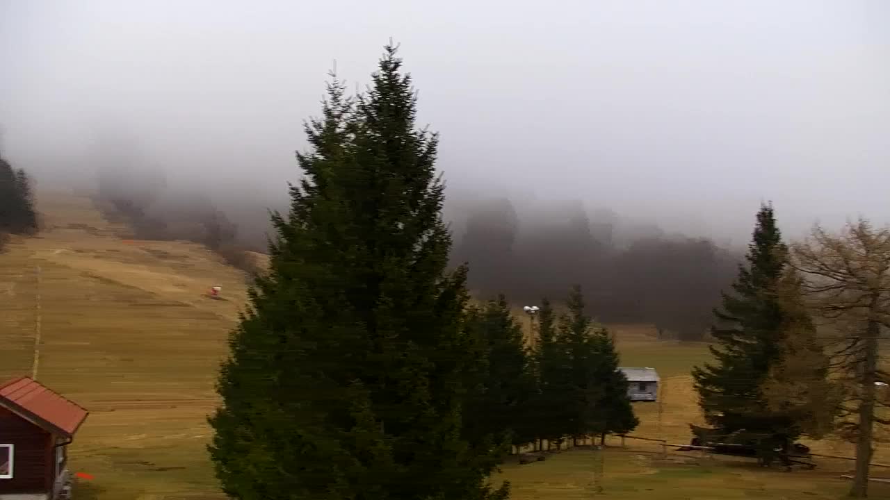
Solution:
<path fill-rule="evenodd" d="M 107 149 L 113 150 L 98 155 L 105 165 L 98 205 L 107 217 L 126 214 L 136 238 L 206 244 L 248 270 L 243 250 L 267 252 L 275 230 L 262 201 L 211 199 L 169 186 L 138 154 Z M 580 284 L 600 321 L 651 323 L 669 338 L 703 340 L 739 255 L 708 238 L 625 227 L 608 210 L 588 216 L 578 204 L 548 214 L 548 220 L 522 220 L 506 198 L 453 202 L 445 214 L 454 238 L 449 265 L 468 262 L 468 287 L 483 299 L 505 293 L 514 302 L 533 303 Z"/>

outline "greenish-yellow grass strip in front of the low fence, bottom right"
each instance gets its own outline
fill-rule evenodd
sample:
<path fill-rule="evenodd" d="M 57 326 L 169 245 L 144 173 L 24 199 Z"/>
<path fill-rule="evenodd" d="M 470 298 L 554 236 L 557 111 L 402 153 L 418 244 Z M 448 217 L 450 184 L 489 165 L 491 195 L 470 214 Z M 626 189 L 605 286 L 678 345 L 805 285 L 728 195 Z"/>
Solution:
<path fill-rule="evenodd" d="M 603 497 L 618 500 L 716 500 L 731 498 L 837 499 L 849 485 L 837 480 L 836 467 L 781 472 L 749 461 L 724 460 L 698 453 L 660 456 L 654 448 L 606 448 L 596 480 L 595 451 L 576 448 L 546 462 L 506 466 L 498 480 L 511 482 L 514 500 L 593 498 L 598 482 Z M 886 498 L 886 485 L 871 487 L 871 497 Z"/>

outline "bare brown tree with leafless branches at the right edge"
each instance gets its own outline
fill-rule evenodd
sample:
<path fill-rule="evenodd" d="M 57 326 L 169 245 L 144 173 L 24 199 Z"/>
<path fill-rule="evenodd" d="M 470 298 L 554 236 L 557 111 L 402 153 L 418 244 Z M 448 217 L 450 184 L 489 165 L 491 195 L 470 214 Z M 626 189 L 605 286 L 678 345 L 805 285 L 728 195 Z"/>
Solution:
<path fill-rule="evenodd" d="M 856 443 L 856 472 L 850 492 L 865 497 L 875 438 L 874 423 L 890 424 L 879 410 L 879 337 L 890 327 L 890 228 L 876 230 L 860 219 L 838 234 L 820 227 L 793 246 L 795 266 L 817 317 L 834 339 L 833 367 L 845 394 L 837 431 Z M 851 419 L 852 417 L 852 419 Z"/>

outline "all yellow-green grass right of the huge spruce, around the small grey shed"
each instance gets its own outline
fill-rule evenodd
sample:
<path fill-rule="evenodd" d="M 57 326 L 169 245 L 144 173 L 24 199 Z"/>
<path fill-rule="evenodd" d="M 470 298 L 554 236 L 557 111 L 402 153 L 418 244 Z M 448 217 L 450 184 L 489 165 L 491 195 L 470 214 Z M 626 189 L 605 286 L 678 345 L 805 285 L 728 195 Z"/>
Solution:
<path fill-rule="evenodd" d="M 685 444 L 689 423 L 703 423 L 689 375 L 692 366 L 709 359 L 708 344 L 658 341 L 650 326 L 612 326 L 626 367 L 655 367 L 661 376 L 660 403 L 634 404 L 640 425 L 632 435 Z M 667 448 L 658 443 L 606 440 L 600 485 L 605 497 L 616 499 L 711 500 L 729 498 L 829 499 L 845 496 L 849 482 L 841 475 L 853 471 L 852 461 L 817 458 L 813 471 L 764 469 L 753 459 L 705 456 Z M 837 440 L 807 442 L 813 452 L 854 456 L 851 445 Z M 548 456 L 545 462 L 508 464 L 498 479 L 509 480 L 516 500 L 574 500 L 595 496 L 595 450 L 579 447 Z M 890 449 L 878 446 L 874 462 L 890 464 Z M 890 477 L 890 469 L 875 467 L 875 477 Z M 873 484 L 870 496 L 890 498 L 890 485 Z"/>

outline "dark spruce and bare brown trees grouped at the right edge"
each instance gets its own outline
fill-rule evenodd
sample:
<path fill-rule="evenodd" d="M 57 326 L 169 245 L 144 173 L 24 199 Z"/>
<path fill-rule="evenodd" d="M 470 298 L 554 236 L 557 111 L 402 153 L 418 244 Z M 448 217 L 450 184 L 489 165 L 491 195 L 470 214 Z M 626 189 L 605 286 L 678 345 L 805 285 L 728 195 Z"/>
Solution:
<path fill-rule="evenodd" d="M 716 436 L 788 454 L 805 436 L 856 445 L 851 496 L 867 494 L 875 424 L 890 423 L 879 363 L 890 327 L 890 229 L 816 226 L 791 245 L 762 206 L 744 265 L 715 312 L 713 361 L 692 377 Z"/>

